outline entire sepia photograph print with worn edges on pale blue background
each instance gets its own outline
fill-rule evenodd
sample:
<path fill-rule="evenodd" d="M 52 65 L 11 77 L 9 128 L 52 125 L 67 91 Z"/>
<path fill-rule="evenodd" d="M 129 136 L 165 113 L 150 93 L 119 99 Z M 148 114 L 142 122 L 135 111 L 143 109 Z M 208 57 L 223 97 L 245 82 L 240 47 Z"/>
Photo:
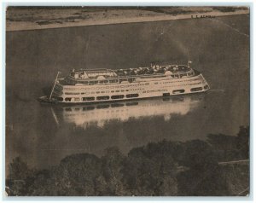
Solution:
<path fill-rule="evenodd" d="M 248 197 L 250 14 L 8 6 L 6 196 Z"/>

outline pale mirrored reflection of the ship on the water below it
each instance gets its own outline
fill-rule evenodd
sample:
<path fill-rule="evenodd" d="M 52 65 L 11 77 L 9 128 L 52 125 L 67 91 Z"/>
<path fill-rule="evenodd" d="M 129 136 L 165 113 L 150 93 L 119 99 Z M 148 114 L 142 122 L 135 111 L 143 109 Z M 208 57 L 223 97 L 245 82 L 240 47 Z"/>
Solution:
<path fill-rule="evenodd" d="M 58 125 L 62 122 L 86 129 L 91 125 L 104 127 L 110 120 L 122 122 L 163 116 L 170 120 L 173 114 L 185 115 L 199 106 L 204 95 L 185 95 L 151 98 L 130 102 L 100 103 L 95 105 L 55 106 L 53 116 Z"/>

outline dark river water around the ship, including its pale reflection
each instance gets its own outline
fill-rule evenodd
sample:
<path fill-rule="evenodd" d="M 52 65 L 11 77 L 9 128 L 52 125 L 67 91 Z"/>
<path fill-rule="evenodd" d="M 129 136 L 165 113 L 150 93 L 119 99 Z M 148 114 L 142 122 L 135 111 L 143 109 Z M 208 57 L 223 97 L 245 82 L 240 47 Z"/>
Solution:
<path fill-rule="evenodd" d="M 236 135 L 249 123 L 249 16 L 85 26 L 6 34 L 6 161 L 47 168 L 69 154 L 122 153 L 148 142 Z M 57 71 L 186 63 L 211 90 L 121 103 L 51 107 L 36 101 Z M 101 116 L 98 116 L 101 115 Z"/>

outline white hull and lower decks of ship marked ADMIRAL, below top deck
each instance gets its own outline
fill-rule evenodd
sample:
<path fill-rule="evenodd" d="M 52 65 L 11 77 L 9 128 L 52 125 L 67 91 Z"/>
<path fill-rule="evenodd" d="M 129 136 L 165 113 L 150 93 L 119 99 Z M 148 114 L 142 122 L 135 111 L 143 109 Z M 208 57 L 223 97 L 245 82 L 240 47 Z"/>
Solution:
<path fill-rule="evenodd" d="M 44 103 L 89 104 L 120 102 L 161 96 L 178 96 L 205 92 L 210 89 L 201 73 L 187 78 L 139 78 L 132 83 L 61 84 L 57 82 L 50 96 L 38 99 Z M 50 98 L 50 99 L 49 99 Z"/>

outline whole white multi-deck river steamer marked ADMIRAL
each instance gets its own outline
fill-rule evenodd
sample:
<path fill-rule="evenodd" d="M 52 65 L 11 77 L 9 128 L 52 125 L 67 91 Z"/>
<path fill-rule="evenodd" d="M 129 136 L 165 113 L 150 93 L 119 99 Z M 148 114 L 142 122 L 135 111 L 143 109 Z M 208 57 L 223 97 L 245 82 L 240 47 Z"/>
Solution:
<path fill-rule="evenodd" d="M 154 65 L 130 69 L 72 70 L 67 77 L 55 78 L 50 103 L 94 103 L 183 95 L 210 89 L 202 74 L 190 65 Z"/>

